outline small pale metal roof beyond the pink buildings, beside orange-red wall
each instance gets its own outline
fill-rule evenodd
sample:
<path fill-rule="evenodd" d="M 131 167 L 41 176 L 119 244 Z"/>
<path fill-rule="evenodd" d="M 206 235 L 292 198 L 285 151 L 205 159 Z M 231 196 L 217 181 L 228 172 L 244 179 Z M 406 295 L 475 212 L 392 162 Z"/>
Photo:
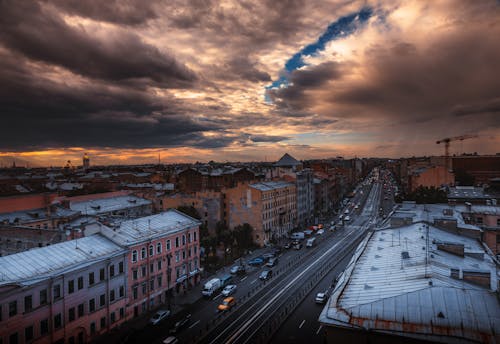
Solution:
<path fill-rule="evenodd" d="M 151 204 L 150 200 L 128 195 L 71 202 L 70 207 L 73 210 L 81 211 L 83 215 L 98 215 L 149 204 Z"/>

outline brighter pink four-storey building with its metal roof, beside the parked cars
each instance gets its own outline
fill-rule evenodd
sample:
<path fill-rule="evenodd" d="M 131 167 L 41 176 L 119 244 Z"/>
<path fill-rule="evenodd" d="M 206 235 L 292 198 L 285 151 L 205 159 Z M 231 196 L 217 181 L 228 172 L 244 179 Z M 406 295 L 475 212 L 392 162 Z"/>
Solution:
<path fill-rule="evenodd" d="M 101 229 L 128 251 L 127 318 L 168 304 L 199 282 L 199 225 L 171 209 Z"/>

